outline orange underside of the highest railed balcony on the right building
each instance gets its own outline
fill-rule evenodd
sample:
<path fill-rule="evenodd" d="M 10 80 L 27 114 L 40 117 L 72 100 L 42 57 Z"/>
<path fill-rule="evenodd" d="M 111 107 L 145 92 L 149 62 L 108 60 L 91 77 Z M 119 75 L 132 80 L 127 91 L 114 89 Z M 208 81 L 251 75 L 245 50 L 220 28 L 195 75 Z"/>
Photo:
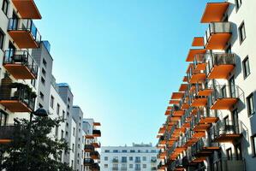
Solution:
<path fill-rule="evenodd" d="M 205 45 L 205 49 L 224 50 L 230 37 L 231 33 L 229 32 L 211 33 L 211 36 L 208 38 L 208 42 Z"/>

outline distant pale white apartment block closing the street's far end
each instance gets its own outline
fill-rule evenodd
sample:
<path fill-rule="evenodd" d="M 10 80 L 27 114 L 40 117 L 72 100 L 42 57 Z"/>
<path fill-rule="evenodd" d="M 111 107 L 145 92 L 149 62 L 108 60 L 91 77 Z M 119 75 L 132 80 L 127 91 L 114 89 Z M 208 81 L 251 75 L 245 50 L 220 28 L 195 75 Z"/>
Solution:
<path fill-rule="evenodd" d="M 133 144 L 132 146 L 103 146 L 101 148 L 100 168 L 112 170 L 157 170 L 158 149 L 152 144 Z"/>

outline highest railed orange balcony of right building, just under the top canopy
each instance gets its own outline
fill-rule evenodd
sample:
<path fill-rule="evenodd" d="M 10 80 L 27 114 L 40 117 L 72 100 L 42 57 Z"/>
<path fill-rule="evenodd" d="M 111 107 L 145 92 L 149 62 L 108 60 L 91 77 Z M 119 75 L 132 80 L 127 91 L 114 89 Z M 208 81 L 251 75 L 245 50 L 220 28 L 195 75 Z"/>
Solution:
<path fill-rule="evenodd" d="M 206 50 L 224 50 L 231 38 L 230 22 L 212 22 L 205 34 Z"/>

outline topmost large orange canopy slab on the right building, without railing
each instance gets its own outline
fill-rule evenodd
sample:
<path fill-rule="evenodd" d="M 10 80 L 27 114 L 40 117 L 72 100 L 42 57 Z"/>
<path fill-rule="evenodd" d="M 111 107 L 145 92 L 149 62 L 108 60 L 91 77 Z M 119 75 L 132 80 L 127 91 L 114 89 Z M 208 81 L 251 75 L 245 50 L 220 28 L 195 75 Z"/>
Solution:
<path fill-rule="evenodd" d="M 229 8 L 229 3 L 207 3 L 201 23 L 219 22 Z"/>

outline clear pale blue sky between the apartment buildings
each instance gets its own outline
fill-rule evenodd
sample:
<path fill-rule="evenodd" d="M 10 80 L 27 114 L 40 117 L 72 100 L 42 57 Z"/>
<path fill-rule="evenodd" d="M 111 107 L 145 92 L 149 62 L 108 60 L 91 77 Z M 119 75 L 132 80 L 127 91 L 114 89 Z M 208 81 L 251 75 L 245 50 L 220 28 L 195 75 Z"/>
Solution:
<path fill-rule="evenodd" d="M 193 37 L 204 36 L 206 2 L 35 0 L 57 82 L 67 82 L 74 104 L 102 123 L 103 145 L 157 143 Z"/>

